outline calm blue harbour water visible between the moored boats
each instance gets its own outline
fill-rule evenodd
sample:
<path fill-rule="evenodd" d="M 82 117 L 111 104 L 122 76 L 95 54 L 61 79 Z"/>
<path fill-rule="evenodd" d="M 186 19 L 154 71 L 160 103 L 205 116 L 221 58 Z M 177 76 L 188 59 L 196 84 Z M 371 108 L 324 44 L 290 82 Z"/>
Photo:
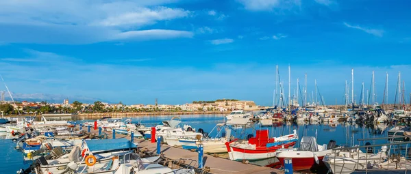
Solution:
<path fill-rule="evenodd" d="M 163 120 L 169 120 L 174 116 L 146 116 L 133 118 L 133 123 L 140 122 L 145 126 L 155 126 L 160 124 Z M 223 123 L 224 115 L 181 115 L 182 124 L 188 124 L 197 130 L 202 128 L 205 132 L 211 132 L 216 124 Z M 77 124 L 84 121 L 79 120 Z M 297 125 L 297 124 L 276 124 L 270 127 L 261 127 L 260 124 L 253 124 L 254 128 L 236 129 L 232 132 L 234 136 L 245 137 L 247 134 L 255 134 L 255 130 L 266 129 L 269 130 L 271 136 L 281 136 L 284 134 L 291 134 L 292 130 L 297 130 L 299 138 L 302 136 L 316 136 L 319 144 L 327 144 L 329 140 L 335 140 L 338 145 L 358 145 L 358 139 L 373 138 L 387 136 L 389 126 L 358 126 L 351 124 L 311 124 L 311 125 Z M 216 136 L 216 131 L 210 133 L 211 136 Z M 15 144 L 12 142 L 12 137 L 5 133 L 0 133 L 0 156 L 3 161 L 0 162 L 0 173 L 16 173 L 18 169 L 26 169 L 29 164 L 24 164 L 23 155 L 21 152 L 14 149 Z M 386 140 L 371 141 L 371 144 L 387 143 Z M 361 143 L 362 145 L 362 143 Z M 270 162 L 269 160 L 262 161 L 260 164 Z"/>

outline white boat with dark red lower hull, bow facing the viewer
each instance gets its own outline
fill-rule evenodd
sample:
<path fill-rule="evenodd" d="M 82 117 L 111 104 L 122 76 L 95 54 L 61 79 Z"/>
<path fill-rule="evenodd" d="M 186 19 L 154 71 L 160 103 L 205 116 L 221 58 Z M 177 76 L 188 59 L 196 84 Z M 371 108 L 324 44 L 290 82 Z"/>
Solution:
<path fill-rule="evenodd" d="M 285 158 L 292 159 L 292 169 L 295 171 L 310 170 L 325 166 L 324 156 L 331 154 L 336 147 L 335 141 L 329 141 L 328 145 L 317 145 L 315 137 L 303 136 L 299 148 L 278 149 L 276 157 L 282 166 Z"/>

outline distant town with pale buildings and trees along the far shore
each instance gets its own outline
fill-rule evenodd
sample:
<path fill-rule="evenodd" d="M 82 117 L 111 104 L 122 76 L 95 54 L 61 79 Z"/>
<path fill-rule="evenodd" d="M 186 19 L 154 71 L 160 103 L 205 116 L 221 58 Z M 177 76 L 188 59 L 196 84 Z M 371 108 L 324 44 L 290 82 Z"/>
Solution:
<path fill-rule="evenodd" d="M 258 106 L 253 101 L 219 99 L 214 101 L 194 101 L 186 104 L 131 104 L 122 102 L 109 104 L 96 101 L 93 104 L 85 104 L 78 101 L 69 102 L 68 99 L 62 103 L 42 102 L 11 102 L 3 101 L 0 111 L 3 115 L 36 115 L 45 113 L 138 113 L 138 112 L 173 112 L 173 111 L 216 111 L 227 112 L 234 110 L 258 110 L 266 108 Z"/>

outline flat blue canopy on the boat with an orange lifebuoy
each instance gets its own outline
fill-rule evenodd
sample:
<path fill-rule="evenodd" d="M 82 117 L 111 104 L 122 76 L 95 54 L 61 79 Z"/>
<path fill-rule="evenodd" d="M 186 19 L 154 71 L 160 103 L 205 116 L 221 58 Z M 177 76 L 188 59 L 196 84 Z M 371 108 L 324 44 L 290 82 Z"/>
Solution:
<path fill-rule="evenodd" d="M 88 148 L 89 151 L 108 151 L 117 149 L 133 149 L 137 148 L 134 143 L 127 139 L 92 139 L 84 140 L 83 148 Z"/>

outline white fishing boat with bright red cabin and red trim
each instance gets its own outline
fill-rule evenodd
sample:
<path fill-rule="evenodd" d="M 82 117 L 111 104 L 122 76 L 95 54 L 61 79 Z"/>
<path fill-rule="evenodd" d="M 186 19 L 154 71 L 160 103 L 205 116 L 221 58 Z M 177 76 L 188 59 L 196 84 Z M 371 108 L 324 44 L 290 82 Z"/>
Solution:
<path fill-rule="evenodd" d="M 248 142 L 238 143 L 236 140 L 225 143 L 231 160 L 262 160 L 274 158 L 275 151 L 281 148 L 293 147 L 298 141 L 297 131 L 293 134 L 269 138 L 269 130 L 257 130 L 256 137 Z"/>

